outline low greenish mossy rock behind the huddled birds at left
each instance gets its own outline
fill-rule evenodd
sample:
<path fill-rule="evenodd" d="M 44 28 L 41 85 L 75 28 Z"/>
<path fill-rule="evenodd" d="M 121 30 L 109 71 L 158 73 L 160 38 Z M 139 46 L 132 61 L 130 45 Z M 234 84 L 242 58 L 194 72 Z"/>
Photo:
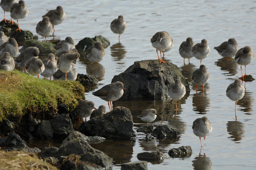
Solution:
<path fill-rule="evenodd" d="M 39 55 L 48 55 L 50 53 L 55 54 L 56 50 L 53 48 L 53 46 L 54 44 L 51 42 L 28 40 L 28 41 L 25 41 L 25 44 L 19 50 L 19 52 L 24 51 L 28 47 L 37 47 L 40 51 Z"/>

